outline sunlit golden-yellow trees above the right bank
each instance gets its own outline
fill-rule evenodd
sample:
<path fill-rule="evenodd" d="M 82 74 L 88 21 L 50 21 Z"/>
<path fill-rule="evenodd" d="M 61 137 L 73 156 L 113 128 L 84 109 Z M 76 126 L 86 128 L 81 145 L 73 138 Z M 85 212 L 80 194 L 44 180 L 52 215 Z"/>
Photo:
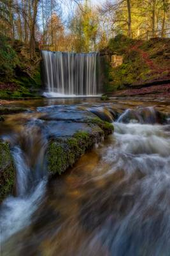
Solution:
<path fill-rule="evenodd" d="M 112 28 L 117 33 L 124 33 L 136 38 L 150 32 L 150 36 L 157 36 L 156 31 L 170 29 L 170 1 L 169 0 L 118 0 L 106 1 L 100 12 L 112 15 Z"/>

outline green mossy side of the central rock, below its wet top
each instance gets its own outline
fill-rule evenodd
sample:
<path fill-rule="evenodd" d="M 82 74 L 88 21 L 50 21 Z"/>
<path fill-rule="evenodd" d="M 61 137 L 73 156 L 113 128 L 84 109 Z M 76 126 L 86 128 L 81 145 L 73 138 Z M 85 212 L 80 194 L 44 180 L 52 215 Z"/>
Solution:
<path fill-rule="evenodd" d="M 47 150 L 48 172 L 52 174 L 65 172 L 91 148 L 95 143 L 111 134 L 113 125 L 103 122 L 99 118 L 90 121 L 91 131 L 77 131 L 68 138 L 58 138 L 49 143 Z"/>

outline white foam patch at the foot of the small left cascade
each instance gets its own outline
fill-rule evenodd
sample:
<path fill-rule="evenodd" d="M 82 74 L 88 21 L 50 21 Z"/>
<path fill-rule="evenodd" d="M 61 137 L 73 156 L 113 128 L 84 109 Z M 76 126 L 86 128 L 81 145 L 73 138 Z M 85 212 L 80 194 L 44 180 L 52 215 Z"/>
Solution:
<path fill-rule="evenodd" d="M 31 216 L 45 194 L 46 180 L 39 181 L 32 193 L 27 196 L 10 196 L 1 205 L 1 243 L 13 234 L 31 224 Z"/>

